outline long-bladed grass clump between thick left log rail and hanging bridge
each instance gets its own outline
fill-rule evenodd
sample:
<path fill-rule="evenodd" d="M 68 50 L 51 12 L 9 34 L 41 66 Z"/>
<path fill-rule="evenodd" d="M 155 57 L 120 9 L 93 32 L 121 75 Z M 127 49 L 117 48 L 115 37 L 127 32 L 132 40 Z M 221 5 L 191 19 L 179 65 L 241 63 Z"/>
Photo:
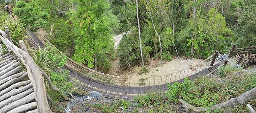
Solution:
<path fill-rule="evenodd" d="M 64 67 L 67 61 L 67 56 L 58 53 L 57 49 L 50 46 L 50 44 L 45 44 L 43 49 L 35 49 L 33 52 L 35 53 L 33 55 L 35 63 L 47 72 L 57 67 Z"/>

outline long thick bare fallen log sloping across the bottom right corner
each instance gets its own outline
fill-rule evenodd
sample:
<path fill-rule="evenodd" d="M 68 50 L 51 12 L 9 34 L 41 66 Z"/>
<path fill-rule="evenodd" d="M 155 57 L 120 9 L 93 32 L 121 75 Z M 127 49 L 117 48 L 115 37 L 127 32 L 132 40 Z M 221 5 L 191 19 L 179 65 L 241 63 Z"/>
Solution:
<path fill-rule="evenodd" d="M 194 107 L 191 104 L 186 103 L 182 99 L 179 99 L 179 101 L 186 108 L 187 112 L 201 113 L 201 112 L 205 112 L 207 110 L 214 111 L 214 110 L 234 106 L 234 105 L 237 105 L 237 104 L 243 104 L 244 102 L 249 101 L 251 99 L 256 99 L 256 87 L 254 87 L 253 89 L 241 94 L 240 96 L 238 96 L 236 98 L 232 98 L 228 101 L 225 101 L 221 104 L 216 104 L 212 107 Z"/>

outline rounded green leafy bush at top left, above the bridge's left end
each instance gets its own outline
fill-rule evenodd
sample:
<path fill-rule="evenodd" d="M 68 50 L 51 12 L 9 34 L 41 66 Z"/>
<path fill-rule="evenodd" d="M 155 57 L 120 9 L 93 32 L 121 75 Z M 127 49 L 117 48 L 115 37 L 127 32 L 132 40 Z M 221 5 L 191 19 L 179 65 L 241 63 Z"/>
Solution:
<path fill-rule="evenodd" d="M 46 25 L 46 20 L 49 19 L 49 8 L 42 7 L 46 2 L 44 0 L 32 0 L 29 3 L 17 1 L 13 13 L 19 16 L 31 30 L 36 31 Z"/>

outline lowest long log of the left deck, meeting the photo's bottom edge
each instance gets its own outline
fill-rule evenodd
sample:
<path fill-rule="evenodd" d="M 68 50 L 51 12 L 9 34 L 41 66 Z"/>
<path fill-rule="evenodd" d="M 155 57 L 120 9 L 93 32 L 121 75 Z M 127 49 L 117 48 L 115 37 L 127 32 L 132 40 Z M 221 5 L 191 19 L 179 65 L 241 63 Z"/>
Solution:
<path fill-rule="evenodd" d="M 19 107 L 16 107 L 16 108 L 8 111 L 7 113 L 24 113 L 27 110 L 32 110 L 32 109 L 35 109 L 35 108 L 36 108 L 36 102 L 31 102 L 31 103 L 24 104 L 24 105 L 21 105 Z"/>

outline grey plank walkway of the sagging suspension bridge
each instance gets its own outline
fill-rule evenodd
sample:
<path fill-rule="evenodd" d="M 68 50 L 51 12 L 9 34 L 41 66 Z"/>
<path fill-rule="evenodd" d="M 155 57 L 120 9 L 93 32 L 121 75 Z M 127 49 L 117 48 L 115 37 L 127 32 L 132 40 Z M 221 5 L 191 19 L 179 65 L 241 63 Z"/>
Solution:
<path fill-rule="evenodd" d="M 28 42 L 31 46 L 34 48 L 38 48 L 38 45 L 40 48 L 44 46 L 44 43 L 40 41 L 40 39 L 33 33 L 28 32 L 28 35 L 30 36 L 27 38 Z M 218 64 L 215 64 L 213 67 L 205 68 L 204 70 L 201 70 L 188 78 L 191 80 L 194 80 L 198 77 L 198 75 L 208 75 L 213 70 L 216 70 L 222 62 L 219 62 Z M 70 77 L 76 79 L 80 83 L 80 88 L 84 89 L 86 91 L 97 91 L 99 93 L 102 93 L 102 96 L 111 98 L 111 99 L 123 99 L 123 100 L 129 100 L 133 101 L 134 96 L 140 96 L 147 93 L 164 93 L 168 90 L 167 84 L 173 84 L 166 83 L 161 85 L 155 85 L 155 86 L 145 86 L 145 87 L 127 87 L 127 86 L 119 86 L 119 85 L 113 85 L 108 84 L 100 81 L 93 80 L 91 78 L 87 78 L 84 75 L 79 74 L 80 72 L 77 72 L 76 70 L 73 70 L 73 68 L 68 67 L 67 65 L 64 67 L 64 69 L 70 70 Z M 178 80 L 177 82 L 183 82 L 184 78 Z"/>

